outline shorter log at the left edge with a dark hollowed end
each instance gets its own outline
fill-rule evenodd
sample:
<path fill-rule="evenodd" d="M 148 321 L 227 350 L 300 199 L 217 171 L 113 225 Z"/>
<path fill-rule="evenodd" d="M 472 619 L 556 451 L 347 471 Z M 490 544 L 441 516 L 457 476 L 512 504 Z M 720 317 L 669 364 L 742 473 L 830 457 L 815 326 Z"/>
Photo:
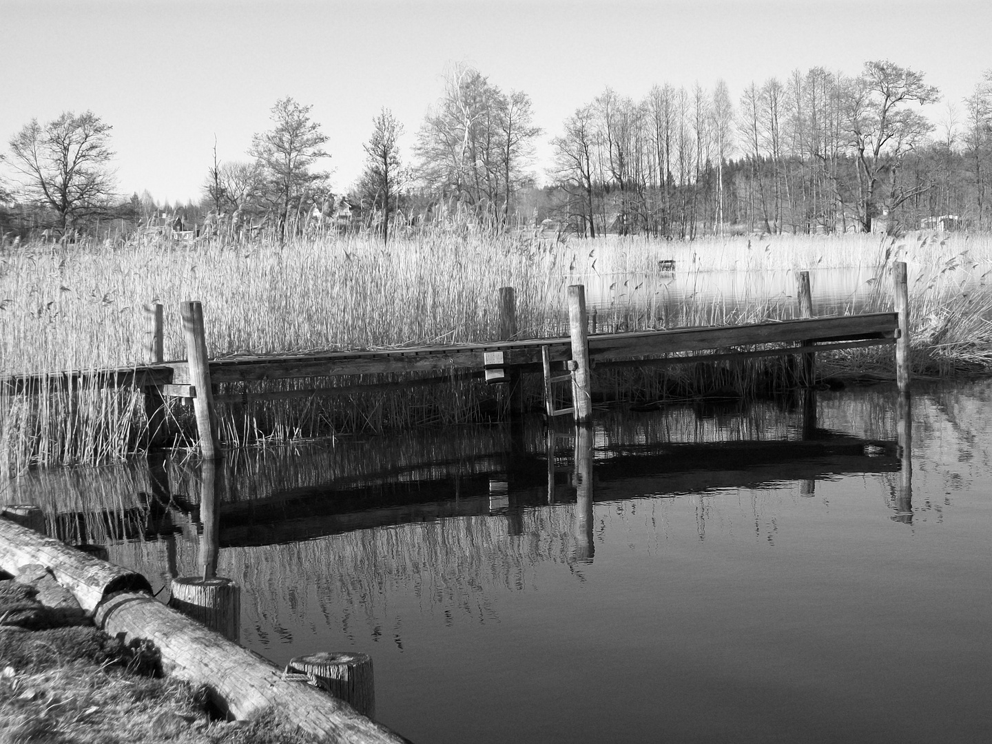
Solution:
<path fill-rule="evenodd" d="M 92 612 L 115 591 L 151 591 L 140 573 L 73 550 L 54 538 L 0 519 L 0 568 L 16 574 L 23 565 L 40 563 L 49 568 L 86 612 Z"/>

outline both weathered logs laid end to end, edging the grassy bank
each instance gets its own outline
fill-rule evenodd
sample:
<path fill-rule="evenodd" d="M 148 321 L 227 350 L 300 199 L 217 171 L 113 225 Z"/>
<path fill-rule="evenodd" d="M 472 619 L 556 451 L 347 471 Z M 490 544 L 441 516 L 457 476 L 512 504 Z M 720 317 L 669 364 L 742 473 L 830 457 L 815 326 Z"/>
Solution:
<path fill-rule="evenodd" d="M 232 718 L 251 719 L 277 708 L 325 742 L 409 744 L 342 700 L 306 682 L 284 679 L 262 657 L 157 601 L 140 573 L 0 518 L 0 569 L 16 574 L 31 563 L 52 571 L 108 635 L 123 634 L 126 643 L 154 643 L 166 674 L 204 687 Z"/>

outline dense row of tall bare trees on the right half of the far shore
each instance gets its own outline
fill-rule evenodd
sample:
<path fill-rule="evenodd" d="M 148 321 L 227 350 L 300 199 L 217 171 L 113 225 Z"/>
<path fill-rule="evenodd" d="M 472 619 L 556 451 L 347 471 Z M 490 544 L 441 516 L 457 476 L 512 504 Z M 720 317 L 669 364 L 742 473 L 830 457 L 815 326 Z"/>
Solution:
<path fill-rule="evenodd" d="M 965 116 L 934 126 L 923 75 L 867 62 L 749 85 L 734 101 L 657 85 L 607 89 L 553 140 L 556 208 L 579 234 L 871 231 L 990 226 L 992 70 Z M 931 220 L 932 222 L 932 220 Z"/>

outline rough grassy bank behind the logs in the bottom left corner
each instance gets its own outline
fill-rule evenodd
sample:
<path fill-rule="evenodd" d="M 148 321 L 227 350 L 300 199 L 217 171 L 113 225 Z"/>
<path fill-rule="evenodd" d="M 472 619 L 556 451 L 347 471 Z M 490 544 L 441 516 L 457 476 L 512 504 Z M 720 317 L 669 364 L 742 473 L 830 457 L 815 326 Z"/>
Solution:
<path fill-rule="evenodd" d="M 232 724 L 211 718 L 203 695 L 162 678 L 150 647 L 123 646 L 68 623 L 0 580 L 0 742 L 3 744 L 307 744 L 276 716 Z"/>

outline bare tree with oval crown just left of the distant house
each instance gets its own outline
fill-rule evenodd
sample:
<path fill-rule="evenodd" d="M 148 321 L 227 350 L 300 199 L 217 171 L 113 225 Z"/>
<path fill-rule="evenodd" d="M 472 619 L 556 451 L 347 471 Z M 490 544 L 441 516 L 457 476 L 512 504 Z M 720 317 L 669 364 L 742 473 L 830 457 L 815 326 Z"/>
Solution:
<path fill-rule="evenodd" d="M 310 120 L 311 108 L 289 96 L 282 98 L 272 107 L 274 128 L 252 137 L 250 154 L 272 186 L 281 240 L 286 238 L 290 211 L 299 211 L 308 188 L 325 176 L 310 171 L 318 160 L 328 157 L 321 149 L 327 137 Z"/>

